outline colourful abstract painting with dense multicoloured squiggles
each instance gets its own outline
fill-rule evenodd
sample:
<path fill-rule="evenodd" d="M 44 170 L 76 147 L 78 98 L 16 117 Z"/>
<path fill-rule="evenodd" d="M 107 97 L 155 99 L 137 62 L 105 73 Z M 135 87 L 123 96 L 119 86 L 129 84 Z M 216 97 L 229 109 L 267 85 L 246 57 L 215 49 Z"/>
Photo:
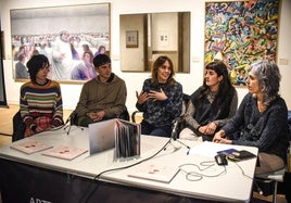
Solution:
<path fill-rule="evenodd" d="M 236 86 L 246 86 L 249 65 L 277 59 L 279 0 L 205 3 L 204 62 L 223 60 Z"/>

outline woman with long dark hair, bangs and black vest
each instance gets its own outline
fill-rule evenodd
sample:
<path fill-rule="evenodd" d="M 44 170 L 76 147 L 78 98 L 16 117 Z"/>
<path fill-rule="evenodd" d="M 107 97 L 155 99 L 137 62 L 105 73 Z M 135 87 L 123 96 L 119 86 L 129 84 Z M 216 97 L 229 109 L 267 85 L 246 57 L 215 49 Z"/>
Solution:
<path fill-rule="evenodd" d="M 214 61 L 206 65 L 203 85 L 195 90 L 188 103 L 184 119 L 186 128 L 179 138 L 212 140 L 236 113 L 238 94 L 231 85 L 226 65 Z"/>

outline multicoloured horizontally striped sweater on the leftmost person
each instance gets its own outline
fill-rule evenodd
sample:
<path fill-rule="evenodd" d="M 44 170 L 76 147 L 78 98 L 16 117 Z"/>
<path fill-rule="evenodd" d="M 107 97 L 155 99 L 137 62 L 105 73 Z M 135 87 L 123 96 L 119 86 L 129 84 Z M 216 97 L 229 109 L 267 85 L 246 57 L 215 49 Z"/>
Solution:
<path fill-rule="evenodd" d="M 21 87 L 21 114 L 26 126 L 37 126 L 36 119 L 45 117 L 48 127 L 63 124 L 63 102 L 59 83 L 48 79 L 45 85 L 28 81 Z"/>

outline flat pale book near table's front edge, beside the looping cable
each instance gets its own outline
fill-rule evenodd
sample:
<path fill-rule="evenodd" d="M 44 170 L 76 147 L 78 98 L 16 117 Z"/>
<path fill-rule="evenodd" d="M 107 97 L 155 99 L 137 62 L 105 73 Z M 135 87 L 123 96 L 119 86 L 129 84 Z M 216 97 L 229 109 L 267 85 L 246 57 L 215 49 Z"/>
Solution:
<path fill-rule="evenodd" d="M 178 172 L 178 167 L 168 166 L 157 162 L 144 162 L 130 170 L 127 176 L 168 183 L 173 180 Z"/>

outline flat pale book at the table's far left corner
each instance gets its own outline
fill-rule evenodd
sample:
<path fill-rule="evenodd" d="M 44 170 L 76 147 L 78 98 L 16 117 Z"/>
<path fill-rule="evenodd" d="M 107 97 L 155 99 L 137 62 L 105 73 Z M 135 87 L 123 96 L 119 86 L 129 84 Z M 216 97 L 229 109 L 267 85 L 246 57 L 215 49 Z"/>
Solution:
<path fill-rule="evenodd" d="M 17 142 L 14 142 L 10 148 L 24 152 L 26 154 L 33 154 L 42 150 L 52 148 L 52 145 L 34 140 L 34 139 L 23 139 Z"/>

